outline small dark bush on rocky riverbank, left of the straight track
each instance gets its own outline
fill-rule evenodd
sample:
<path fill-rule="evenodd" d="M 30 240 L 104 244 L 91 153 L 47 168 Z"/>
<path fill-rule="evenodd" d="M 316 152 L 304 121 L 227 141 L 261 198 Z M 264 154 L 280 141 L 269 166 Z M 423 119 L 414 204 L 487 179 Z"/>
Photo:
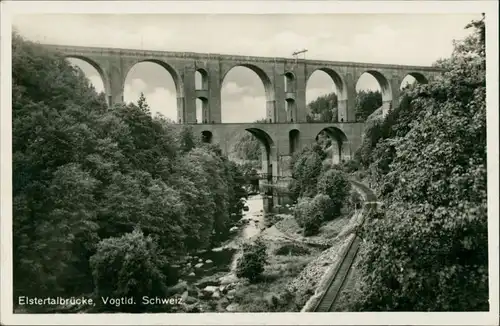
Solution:
<path fill-rule="evenodd" d="M 257 240 L 253 244 L 243 244 L 243 256 L 238 260 L 236 276 L 247 278 L 255 283 L 267 263 L 266 245 Z"/>

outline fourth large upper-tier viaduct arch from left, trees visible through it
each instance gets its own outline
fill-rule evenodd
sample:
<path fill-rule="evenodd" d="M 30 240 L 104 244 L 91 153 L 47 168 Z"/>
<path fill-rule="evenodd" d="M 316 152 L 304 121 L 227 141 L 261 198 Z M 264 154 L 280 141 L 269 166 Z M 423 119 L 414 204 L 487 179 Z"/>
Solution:
<path fill-rule="evenodd" d="M 322 72 L 324 74 L 326 74 L 329 79 L 333 82 L 333 88 L 331 89 L 331 91 L 327 94 L 324 94 L 324 95 L 328 95 L 330 93 L 335 93 L 336 94 L 336 97 L 337 97 L 337 102 L 336 103 L 333 103 L 333 107 L 332 107 L 332 111 L 335 111 L 335 108 L 336 108 L 336 112 L 337 114 L 333 114 L 332 112 L 332 116 L 331 116 L 331 119 L 330 118 L 327 118 L 328 121 L 321 121 L 321 122 L 336 122 L 336 121 L 340 121 L 341 119 L 346 119 L 347 117 L 344 117 L 344 115 L 346 114 L 346 112 L 344 112 L 344 108 L 340 109 L 339 108 L 339 104 L 340 103 L 344 103 L 344 102 L 347 102 L 347 87 L 346 87 L 346 84 L 345 84 L 345 81 L 344 79 L 342 78 L 342 76 L 340 76 L 340 74 L 335 71 L 334 69 L 332 68 L 328 68 L 328 67 L 318 67 L 314 70 L 312 70 L 310 72 L 310 74 L 308 74 L 307 78 L 306 78 L 306 97 L 307 96 L 307 90 L 308 90 L 308 87 L 310 87 L 310 82 L 311 82 L 311 77 L 313 75 L 316 75 L 318 72 Z M 315 99 L 313 99 L 315 100 Z M 310 98 L 307 98 L 307 102 L 311 102 L 311 99 Z M 307 112 L 308 116 L 311 115 L 311 112 Z M 324 118 L 326 117 L 323 117 L 323 120 Z M 309 118 L 309 119 L 313 119 L 313 118 Z M 313 119 L 315 120 L 315 119 Z"/>

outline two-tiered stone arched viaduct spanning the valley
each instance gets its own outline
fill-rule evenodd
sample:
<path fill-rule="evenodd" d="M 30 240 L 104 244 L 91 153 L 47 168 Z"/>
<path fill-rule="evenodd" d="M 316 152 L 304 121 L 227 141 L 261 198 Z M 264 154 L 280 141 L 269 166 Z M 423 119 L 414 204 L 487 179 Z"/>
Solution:
<path fill-rule="evenodd" d="M 337 141 L 335 160 L 348 159 L 360 146 L 364 123 L 356 122 L 356 83 L 363 73 L 378 81 L 384 111 L 397 106 L 400 86 L 407 75 L 426 83 L 440 70 L 434 67 L 374 63 L 336 62 L 290 58 L 252 57 L 192 52 L 148 51 L 118 48 L 44 45 L 68 58 L 91 64 L 101 75 L 111 107 L 123 102 L 127 73 L 137 63 L 154 62 L 172 76 L 177 92 L 179 125 L 192 125 L 205 141 L 219 143 L 229 152 L 231 141 L 242 130 L 254 134 L 263 144 L 262 172 L 289 175 L 292 153 L 315 141 L 321 131 Z M 224 77 L 236 66 L 254 71 L 262 80 L 266 95 L 266 123 L 221 123 L 221 88 Z M 333 80 L 338 97 L 338 117 L 332 123 L 306 122 L 306 83 L 316 71 Z M 201 83 L 195 82 L 196 74 Z M 197 87 L 198 86 L 198 87 Z M 202 100 L 202 121 L 196 120 L 196 100 Z"/>

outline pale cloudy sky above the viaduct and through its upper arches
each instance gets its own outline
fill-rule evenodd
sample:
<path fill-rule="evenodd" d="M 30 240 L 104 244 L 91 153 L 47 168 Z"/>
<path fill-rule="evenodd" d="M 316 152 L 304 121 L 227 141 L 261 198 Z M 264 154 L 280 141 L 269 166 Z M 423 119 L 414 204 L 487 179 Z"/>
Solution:
<path fill-rule="evenodd" d="M 24 37 L 43 43 L 291 57 L 306 48 L 308 59 L 431 65 L 449 57 L 452 40 L 469 33 L 471 14 L 37 14 L 14 17 Z M 72 59 L 101 91 L 97 71 Z M 335 91 L 323 72 L 307 85 L 307 102 Z M 379 89 L 368 74 L 357 89 Z M 177 120 L 174 83 L 154 63 L 136 65 L 125 82 L 125 101 L 140 92 L 153 112 Z M 236 67 L 224 79 L 222 121 L 251 122 L 265 117 L 262 82 L 255 73 Z"/>

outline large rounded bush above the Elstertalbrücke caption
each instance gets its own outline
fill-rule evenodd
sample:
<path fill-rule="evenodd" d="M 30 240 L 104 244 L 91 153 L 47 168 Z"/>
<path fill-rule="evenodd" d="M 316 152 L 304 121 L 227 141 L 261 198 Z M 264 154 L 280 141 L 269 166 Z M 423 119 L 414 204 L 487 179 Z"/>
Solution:
<path fill-rule="evenodd" d="M 97 297 L 133 297 L 139 303 L 144 295 L 165 296 L 167 279 L 163 270 L 167 262 L 156 242 L 150 236 L 145 237 L 142 231 L 136 229 L 120 238 L 101 241 L 90 258 L 90 266 Z M 110 308 L 128 312 L 144 309 L 139 304 L 106 307 Z"/>

